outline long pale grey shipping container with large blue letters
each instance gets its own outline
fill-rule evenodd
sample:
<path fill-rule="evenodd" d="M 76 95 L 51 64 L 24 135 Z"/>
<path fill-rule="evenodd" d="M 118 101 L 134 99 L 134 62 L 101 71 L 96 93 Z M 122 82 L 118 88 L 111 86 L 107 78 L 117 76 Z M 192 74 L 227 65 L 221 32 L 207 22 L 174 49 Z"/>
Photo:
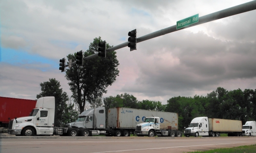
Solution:
<path fill-rule="evenodd" d="M 145 117 L 160 117 L 160 129 L 178 129 L 178 114 L 170 112 L 148 111 L 133 108 L 109 108 L 108 127 L 136 128 Z"/>

